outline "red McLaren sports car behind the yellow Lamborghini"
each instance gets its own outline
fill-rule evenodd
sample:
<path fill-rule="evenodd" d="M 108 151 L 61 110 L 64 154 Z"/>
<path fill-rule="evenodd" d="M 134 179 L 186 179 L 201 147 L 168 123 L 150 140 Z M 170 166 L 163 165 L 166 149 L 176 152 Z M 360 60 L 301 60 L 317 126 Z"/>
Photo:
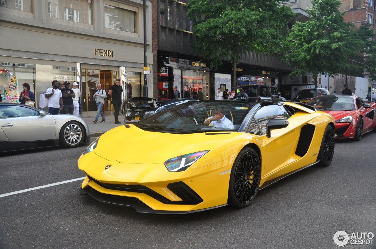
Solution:
<path fill-rule="evenodd" d="M 324 95 L 306 103 L 331 114 L 335 119 L 335 138 L 354 138 L 376 131 L 376 103 L 367 104 L 356 96 Z"/>

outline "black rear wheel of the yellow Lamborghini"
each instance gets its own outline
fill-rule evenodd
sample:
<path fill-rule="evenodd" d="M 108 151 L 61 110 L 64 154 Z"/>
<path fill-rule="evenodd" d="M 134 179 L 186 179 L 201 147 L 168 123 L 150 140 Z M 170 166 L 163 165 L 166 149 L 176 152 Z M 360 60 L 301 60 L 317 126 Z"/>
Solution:
<path fill-rule="evenodd" d="M 334 145 L 334 130 L 332 126 L 328 125 L 325 128 L 320 151 L 318 153 L 321 166 L 326 167 L 331 164 L 334 156 Z"/>

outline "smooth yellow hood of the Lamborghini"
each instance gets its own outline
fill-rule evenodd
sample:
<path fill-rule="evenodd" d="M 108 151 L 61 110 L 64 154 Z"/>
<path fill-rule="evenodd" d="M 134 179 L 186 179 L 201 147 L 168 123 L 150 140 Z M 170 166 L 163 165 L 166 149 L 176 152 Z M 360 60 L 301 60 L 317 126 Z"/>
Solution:
<path fill-rule="evenodd" d="M 119 126 L 102 135 L 94 153 L 120 163 L 164 163 L 172 157 L 200 151 L 194 148 L 204 143 L 208 143 L 205 150 L 211 150 L 221 145 L 218 139 L 228 138 L 228 132 L 215 134 L 171 134 L 144 131 L 134 125 Z"/>

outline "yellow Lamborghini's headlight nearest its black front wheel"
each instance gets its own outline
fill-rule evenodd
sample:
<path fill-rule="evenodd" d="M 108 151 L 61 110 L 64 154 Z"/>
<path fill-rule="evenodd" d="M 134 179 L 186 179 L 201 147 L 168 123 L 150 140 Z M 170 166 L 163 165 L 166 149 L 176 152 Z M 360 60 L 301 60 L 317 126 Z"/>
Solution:
<path fill-rule="evenodd" d="M 170 158 L 164 162 L 164 165 L 170 172 L 185 171 L 189 166 L 208 152 L 209 150 L 205 150 Z"/>

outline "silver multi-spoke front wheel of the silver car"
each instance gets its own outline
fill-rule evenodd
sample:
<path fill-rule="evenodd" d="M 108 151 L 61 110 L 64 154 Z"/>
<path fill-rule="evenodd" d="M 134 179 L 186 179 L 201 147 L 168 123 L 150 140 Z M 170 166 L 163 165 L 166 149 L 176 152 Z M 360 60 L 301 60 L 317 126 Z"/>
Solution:
<path fill-rule="evenodd" d="M 79 122 L 70 121 L 62 126 L 59 134 L 59 143 L 65 148 L 74 148 L 82 144 L 85 132 Z"/>

